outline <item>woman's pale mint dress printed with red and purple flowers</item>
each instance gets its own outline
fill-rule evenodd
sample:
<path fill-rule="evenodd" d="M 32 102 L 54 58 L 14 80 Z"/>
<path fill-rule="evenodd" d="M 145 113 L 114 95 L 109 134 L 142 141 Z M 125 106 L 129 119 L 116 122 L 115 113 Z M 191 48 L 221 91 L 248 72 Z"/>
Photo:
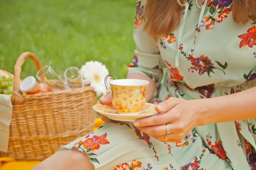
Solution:
<path fill-rule="evenodd" d="M 152 103 L 256 86 L 256 24 L 234 22 L 232 0 L 208 0 L 202 7 L 187 0 L 180 27 L 157 41 L 143 31 L 145 3 L 137 2 L 136 50 L 128 71 L 157 83 Z M 255 141 L 256 119 L 196 127 L 176 143 L 157 141 L 132 122 L 120 122 L 105 123 L 60 149 L 87 153 L 96 170 L 256 170 Z"/>

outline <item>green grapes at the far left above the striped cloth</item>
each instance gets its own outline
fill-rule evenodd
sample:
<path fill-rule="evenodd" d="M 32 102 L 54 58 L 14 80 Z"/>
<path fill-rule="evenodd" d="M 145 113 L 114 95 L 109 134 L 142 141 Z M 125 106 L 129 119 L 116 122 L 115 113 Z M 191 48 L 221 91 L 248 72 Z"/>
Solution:
<path fill-rule="evenodd" d="M 13 77 L 0 77 L 0 93 L 10 95 L 13 92 Z"/>

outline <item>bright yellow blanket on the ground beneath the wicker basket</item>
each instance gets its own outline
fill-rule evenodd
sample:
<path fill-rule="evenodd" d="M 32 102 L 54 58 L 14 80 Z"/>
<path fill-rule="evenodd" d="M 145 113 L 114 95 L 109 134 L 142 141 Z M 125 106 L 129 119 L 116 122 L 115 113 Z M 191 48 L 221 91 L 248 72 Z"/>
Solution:
<path fill-rule="evenodd" d="M 94 124 L 94 130 L 99 128 L 104 122 L 97 118 Z M 36 166 L 40 161 L 15 161 L 12 158 L 0 157 L 0 170 L 30 170 Z"/>

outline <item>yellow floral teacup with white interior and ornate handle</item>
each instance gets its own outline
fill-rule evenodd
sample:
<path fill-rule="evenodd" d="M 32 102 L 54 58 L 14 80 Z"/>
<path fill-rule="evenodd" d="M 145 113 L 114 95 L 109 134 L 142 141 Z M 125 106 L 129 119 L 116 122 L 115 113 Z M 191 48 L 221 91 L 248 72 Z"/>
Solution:
<path fill-rule="evenodd" d="M 114 79 L 108 74 L 105 86 L 112 94 L 112 104 L 119 114 L 138 115 L 146 104 L 149 82 L 143 79 Z"/>

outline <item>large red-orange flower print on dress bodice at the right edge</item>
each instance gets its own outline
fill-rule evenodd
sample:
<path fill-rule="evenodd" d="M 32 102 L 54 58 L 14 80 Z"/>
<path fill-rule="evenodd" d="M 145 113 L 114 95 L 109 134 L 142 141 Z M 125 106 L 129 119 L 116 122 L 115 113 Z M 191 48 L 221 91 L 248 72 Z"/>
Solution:
<path fill-rule="evenodd" d="M 247 33 L 238 35 L 238 38 L 242 39 L 239 44 L 240 48 L 245 45 L 252 48 L 253 45 L 256 45 L 256 26 L 254 25 L 252 28 L 249 28 Z"/>

